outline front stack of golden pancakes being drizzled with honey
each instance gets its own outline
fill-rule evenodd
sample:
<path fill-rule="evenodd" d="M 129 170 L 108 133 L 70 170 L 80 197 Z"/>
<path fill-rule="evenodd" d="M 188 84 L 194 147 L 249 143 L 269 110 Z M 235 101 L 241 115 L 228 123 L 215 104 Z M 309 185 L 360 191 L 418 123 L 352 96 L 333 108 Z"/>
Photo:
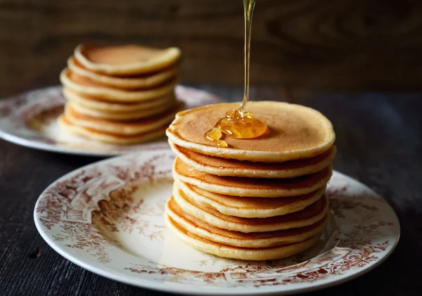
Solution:
<path fill-rule="evenodd" d="M 335 134 L 311 108 L 251 102 L 247 111 L 269 127 L 257 139 L 204 134 L 237 103 L 179 112 L 167 129 L 174 161 L 167 226 L 188 245 L 219 257 L 280 259 L 319 240 L 328 222 L 324 195 Z"/>

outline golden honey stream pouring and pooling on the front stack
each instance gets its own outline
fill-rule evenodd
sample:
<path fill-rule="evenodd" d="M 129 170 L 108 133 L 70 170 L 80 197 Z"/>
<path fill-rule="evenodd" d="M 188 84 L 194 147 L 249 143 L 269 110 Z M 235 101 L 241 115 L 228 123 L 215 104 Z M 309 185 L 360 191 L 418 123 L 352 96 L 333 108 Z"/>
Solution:
<path fill-rule="evenodd" d="M 255 139 L 268 132 L 268 127 L 264 122 L 253 118 L 251 112 L 243 110 L 249 100 L 250 32 L 255 1 L 243 0 L 243 15 L 245 19 L 245 88 L 242 103 L 237 110 L 226 112 L 226 116 L 219 120 L 215 127 L 205 133 L 205 139 L 214 142 L 217 147 L 229 147 L 226 141 L 221 139 L 223 134 L 234 139 Z"/>

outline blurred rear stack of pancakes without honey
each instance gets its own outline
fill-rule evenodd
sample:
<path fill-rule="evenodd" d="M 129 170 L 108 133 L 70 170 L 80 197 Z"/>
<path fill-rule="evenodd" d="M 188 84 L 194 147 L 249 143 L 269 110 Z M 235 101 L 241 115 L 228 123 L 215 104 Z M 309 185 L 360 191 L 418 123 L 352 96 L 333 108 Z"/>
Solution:
<path fill-rule="evenodd" d="M 177 48 L 79 45 L 60 73 L 68 102 L 60 127 L 132 144 L 163 135 L 182 105 L 174 96 Z"/>

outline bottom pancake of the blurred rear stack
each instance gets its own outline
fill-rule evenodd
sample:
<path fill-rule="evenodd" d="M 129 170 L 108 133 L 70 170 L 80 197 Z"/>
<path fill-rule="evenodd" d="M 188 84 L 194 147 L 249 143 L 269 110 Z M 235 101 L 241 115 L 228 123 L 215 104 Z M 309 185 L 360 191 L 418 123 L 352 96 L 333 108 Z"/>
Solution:
<path fill-rule="evenodd" d="M 117 134 L 105 133 L 103 131 L 96 131 L 95 129 L 88 129 L 86 127 L 78 127 L 69 122 L 64 115 L 60 115 L 58 117 L 58 125 L 61 129 L 68 131 L 70 134 L 76 134 L 94 141 L 117 145 L 130 145 L 150 141 L 158 138 L 159 136 L 163 136 L 165 134 L 165 129 L 167 128 L 167 125 L 165 125 L 143 134 L 120 136 Z"/>

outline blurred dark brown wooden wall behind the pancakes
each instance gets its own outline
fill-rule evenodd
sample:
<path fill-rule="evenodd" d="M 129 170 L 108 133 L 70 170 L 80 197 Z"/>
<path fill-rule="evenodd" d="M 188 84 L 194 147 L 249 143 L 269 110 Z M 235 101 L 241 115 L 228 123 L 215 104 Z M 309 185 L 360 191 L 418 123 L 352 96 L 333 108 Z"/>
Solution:
<path fill-rule="evenodd" d="M 0 97 L 47 84 L 79 43 L 179 46 L 186 84 L 243 84 L 241 0 L 0 0 Z M 257 0 L 255 85 L 420 90 L 422 1 Z"/>

